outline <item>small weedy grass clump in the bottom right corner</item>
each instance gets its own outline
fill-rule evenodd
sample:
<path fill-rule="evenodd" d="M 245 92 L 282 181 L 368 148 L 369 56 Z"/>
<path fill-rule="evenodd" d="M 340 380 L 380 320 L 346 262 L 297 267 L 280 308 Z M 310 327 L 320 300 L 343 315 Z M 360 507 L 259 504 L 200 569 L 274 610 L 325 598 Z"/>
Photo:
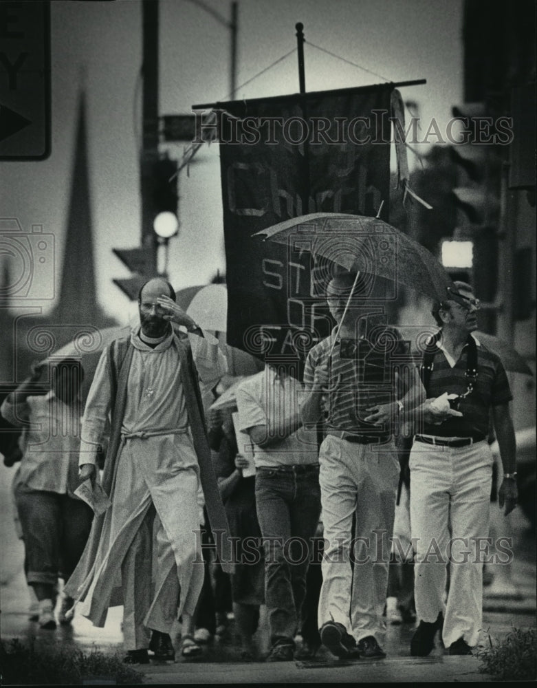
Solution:
<path fill-rule="evenodd" d="M 513 628 L 496 645 L 476 653 L 479 671 L 495 681 L 522 681 L 537 678 L 537 630 Z"/>

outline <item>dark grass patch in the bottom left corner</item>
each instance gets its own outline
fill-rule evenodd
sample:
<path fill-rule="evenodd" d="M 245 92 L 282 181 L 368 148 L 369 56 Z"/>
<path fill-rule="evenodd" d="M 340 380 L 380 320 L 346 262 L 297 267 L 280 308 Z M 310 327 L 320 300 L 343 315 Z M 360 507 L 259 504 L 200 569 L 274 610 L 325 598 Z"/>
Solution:
<path fill-rule="evenodd" d="M 135 685 L 144 675 L 118 654 L 76 647 L 39 647 L 15 639 L 1 643 L 2 685 Z"/>

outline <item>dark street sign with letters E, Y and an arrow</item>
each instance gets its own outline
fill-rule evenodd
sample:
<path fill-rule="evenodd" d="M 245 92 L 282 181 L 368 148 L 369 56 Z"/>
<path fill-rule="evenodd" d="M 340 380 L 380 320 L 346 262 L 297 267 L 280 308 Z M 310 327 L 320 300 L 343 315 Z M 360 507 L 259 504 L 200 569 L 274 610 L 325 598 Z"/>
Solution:
<path fill-rule="evenodd" d="M 0 160 L 50 155 L 50 3 L 0 2 Z"/>

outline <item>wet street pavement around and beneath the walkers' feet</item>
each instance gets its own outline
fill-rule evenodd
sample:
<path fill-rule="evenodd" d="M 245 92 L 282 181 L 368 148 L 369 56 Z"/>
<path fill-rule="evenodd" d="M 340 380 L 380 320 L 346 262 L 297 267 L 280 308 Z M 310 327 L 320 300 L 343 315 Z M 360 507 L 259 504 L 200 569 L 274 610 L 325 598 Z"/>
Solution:
<path fill-rule="evenodd" d="M 122 608 L 109 612 L 104 628 L 95 628 L 79 614 L 72 625 L 58 625 L 56 630 L 41 630 L 28 620 L 30 597 L 23 574 L 23 546 L 14 533 L 12 504 L 9 495 L 8 469 L 0 466 L 1 510 L 1 638 L 9 641 L 32 639 L 37 646 L 78 647 L 100 649 L 107 654 L 122 649 Z M 514 535 L 515 559 L 512 566 L 493 567 L 492 584 L 485 588 L 483 601 L 483 633 L 481 643 L 486 647 L 503 638 L 512 627 L 536 626 L 536 552 L 535 536 L 520 513 L 510 524 Z M 479 671 L 476 657 L 450 657 L 443 647 L 437 647 L 427 658 L 410 657 L 410 638 L 415 625 L 387 625 L 384 660 L 342 662 L 321 648 L 315 660 L 307 662 L 263 663 L 268 650 L 265 610 L 256 633 L 256 648 L 260 661 L 241 662 L 234 643 L 233 622 L 223 636 L 204 645 L 203 654 L 196 660 L 184 660 L 177 652 L 175 663 L 151 663 L 139 666 L 146 685 L 178 685 L 207 683 L 338 683 L 338 682 L 478 682 L 490 680 Z M 173 637 L 179 649 L 180 626 Z"/>

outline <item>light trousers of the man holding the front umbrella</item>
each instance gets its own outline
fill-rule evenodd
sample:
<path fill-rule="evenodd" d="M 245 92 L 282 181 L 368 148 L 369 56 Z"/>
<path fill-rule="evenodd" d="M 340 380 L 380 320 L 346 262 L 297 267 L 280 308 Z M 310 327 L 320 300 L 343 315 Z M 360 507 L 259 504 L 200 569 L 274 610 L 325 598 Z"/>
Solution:
<path fill-rule="evenodd" d="M 319 627 L 333 620 L 356 641 L 374 636 L 380 642 L 399 481 L 395 446 L 329 435 L 320 447 L 319 463 L 325 530 Z"/>

